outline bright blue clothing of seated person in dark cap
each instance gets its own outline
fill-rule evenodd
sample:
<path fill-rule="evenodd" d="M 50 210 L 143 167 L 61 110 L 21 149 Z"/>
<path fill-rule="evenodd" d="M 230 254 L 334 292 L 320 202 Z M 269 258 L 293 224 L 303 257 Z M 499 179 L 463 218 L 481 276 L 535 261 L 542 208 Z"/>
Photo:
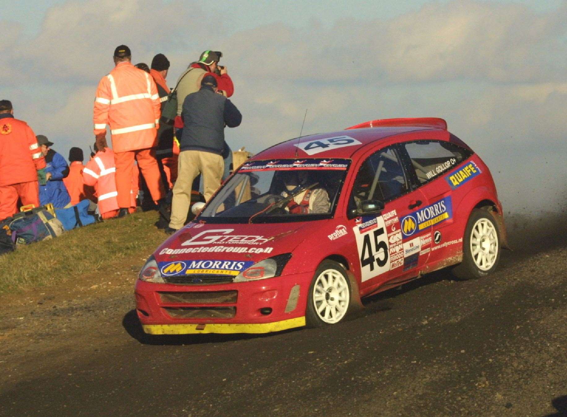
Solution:
<path fill-rule="evenodd" d="M 45 164 L 45 173 L 50 172 L 51 178 L 45 186 L 39 186 L 40 204 L 53 203 L 53 207 L 63 208 L 71 201 L 63 183 L 63 179 L 69 175 L 69 166 L 65 158 L 53 149 L 49 149 L 45 155 Z"/>

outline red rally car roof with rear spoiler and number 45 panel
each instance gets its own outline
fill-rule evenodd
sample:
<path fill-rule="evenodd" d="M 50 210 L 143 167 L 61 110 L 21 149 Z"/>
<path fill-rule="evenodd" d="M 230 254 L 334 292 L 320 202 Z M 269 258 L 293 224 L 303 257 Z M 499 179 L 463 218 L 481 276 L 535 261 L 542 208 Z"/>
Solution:
<path fill-rule="evenodd" d="M 447 123 L 437 117 L 412 117 L 404 119 L 370 120 L 336 132 L 311 134 L 293 138 L 256 154 L 253 160 L 258 159 L 294 159 L 294 158 L 350 158 L 363 146 L 382 140 L 387 137 L 415 132 L 416 130 L 447 130 Z M 297 145 L 307 142 L 319 141 L 328 138 L 348 136 L 361 142 L 359 145 L 321 150 L 317 154 L 307 154 Z"/>

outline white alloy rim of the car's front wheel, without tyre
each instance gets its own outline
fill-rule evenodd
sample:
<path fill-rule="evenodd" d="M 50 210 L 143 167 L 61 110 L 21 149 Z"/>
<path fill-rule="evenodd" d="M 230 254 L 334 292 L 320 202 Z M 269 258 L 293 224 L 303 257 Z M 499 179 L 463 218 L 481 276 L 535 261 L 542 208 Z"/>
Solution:
<path fill-rule="evenodd" d="M 341 321 L 350 302 L 346 277 L 336 269 L 325 269 L 315 279 L 312 291 L 315 312 L 321 321 L 333 324 Z"/>

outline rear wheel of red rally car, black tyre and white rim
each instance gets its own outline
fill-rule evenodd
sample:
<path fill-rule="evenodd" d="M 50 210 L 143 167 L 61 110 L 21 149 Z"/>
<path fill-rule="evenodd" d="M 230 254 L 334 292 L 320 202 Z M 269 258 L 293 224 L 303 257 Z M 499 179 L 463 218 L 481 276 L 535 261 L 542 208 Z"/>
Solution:
<path fill-rule="evenodd" d="M 494 272 L 500 262 L 500 231 L 494 216 L 473 209 L 463 237 L 463 262 L 453 269 L 462 280 L 477 279 Z"/>

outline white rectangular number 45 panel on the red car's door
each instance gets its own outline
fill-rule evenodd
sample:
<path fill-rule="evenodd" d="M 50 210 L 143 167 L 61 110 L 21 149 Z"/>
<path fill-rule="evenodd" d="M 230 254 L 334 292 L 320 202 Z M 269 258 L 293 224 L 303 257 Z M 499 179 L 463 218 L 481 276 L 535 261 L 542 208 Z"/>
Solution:
<path fill-rule="evenodd" d="M 382 216 L 357 218 L 353 231 L 358 248 L 362 282 L 390 271 L 388 234 Z M 401 242 L 401 236 L 399 241 Z"/>

